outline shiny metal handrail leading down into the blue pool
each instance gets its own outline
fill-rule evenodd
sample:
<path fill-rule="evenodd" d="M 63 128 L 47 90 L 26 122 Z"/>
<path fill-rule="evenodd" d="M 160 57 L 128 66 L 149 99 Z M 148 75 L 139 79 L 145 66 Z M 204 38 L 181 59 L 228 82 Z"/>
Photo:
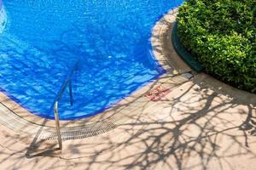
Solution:
<path fill-rule="evenodd" d="M 65 89 L 69 88 L 69 97 L 70 97 L 70 105 L 73 105 L 73 91 L 72 91 L 72 77 L 74 71 L 78 68 L 79 65 L 79 60 L 76 61 L 75 65 L 73 65 L 72 70 L 69 72 L 67 78 L 61 85 L 61 89 L 59 90 L 58 94 L 56 95 L 55 98 L 55 103 L 54 103 L 54 111 L 55 111 L 55 125 L 56 125 L 56 132 L 58 136 L 58 143 L 59 143 L 59 148 L 62 149 L 62 140 L 61 140 L 61 128 L 60 128 L 60 121 L 59 121 L 59 110 L 58 110 L 58 104 L 59 101 L 62 97 L 62 95 L 65 92 Z"/>

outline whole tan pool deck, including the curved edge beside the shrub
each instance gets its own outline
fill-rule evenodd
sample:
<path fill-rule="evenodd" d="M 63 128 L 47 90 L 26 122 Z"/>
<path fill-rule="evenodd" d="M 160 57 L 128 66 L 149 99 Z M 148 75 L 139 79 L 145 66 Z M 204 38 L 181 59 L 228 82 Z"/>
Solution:
<path fill-rule="evenodd" d="M 50 122 L 45 127 L 47 120 L 33 123 L 19 116 L 14 108 L 22 108 L 2 95 L 0 167 L 255 169 L 256 95 L 205 73 L 195 74 L 179 59 L 170 33 L 176 14 L 177 9 L 172 10 L 156 23 L 152 37 L 154 54 L 168 72 L 107 112 L 103 118 L 106 122 L 111 116 L 124 117 L 114 119 L 115 127 L 108 132 L 65 140 L 63 150 L 58 150 L 55 139 L 40 138 L 42 133 L 53 133 L 49 132 L 54 130 Z M 164 94 L 156 96 L 157 101 L 150 100 L 152 95 L 148 93 L 159 87 L 166 89 Z M 101 119 L 99 116 L 78 123 L 93 124 Z M 78 128 L 67 122 L 61 127 L 62 132 Z"/>

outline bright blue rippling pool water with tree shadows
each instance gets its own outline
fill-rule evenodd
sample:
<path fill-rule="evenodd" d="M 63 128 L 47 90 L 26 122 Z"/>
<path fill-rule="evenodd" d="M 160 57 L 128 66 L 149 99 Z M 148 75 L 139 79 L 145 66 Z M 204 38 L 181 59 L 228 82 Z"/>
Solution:
<path fill-rule="evenodd" d="M 1 0 L 0 0 L 1 1 Z M 93 116 L 164 73 L 150 53 L 151 29 L 183 0 L 5 0 L 0 89 L 33 114 L 52 106 L 76 61 L 74 105 L 61 120 Z"/>

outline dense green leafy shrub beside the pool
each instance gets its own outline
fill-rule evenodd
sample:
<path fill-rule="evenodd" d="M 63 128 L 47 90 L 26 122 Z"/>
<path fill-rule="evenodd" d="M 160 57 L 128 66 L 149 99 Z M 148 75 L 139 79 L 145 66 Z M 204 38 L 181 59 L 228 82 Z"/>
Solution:
<path fill-rule="evenodd" d="M 256 94 L 255 3 L 189 0 L 179 8 L 177 33 L 208 73 Z"/>

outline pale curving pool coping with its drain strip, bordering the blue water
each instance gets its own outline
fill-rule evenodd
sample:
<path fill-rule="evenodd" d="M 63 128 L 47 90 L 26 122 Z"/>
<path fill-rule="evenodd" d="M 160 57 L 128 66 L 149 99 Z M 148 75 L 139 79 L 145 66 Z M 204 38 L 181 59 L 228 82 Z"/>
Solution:
<path fill-rule="evenodd" d="M 140 88 L 130 96 L 119 101 L 118 104 L 113 105 L 112 108 L 96 116 L 75 121 L 61 121 L 61 133 L 67 133 L 67 139 L 73 139 L 75 133 L 80 133 L 76 135 L 83 138 L 88 135 L 97 135 L 98 133 L 109 131 L 117 127 L 120 123 L 128 121 L 131 116 L 135 116 L 137 111 L 141 109 L 140 107 L 142 105 L 144 106 L 145 103 L 152 105 L 152 101 L 148 101 L 144 96 L 150 90 L 159 86 L 174 89 L 192 77 L 188 73 L 191 69 L 179 58 L 172 46 L 171 30 L 176 17 L 177 8 L 170 10 L 158 20 L 152 29 L 152 52 L 157 62 L 167 71 L 166 74 L 157 80 L 148 82 L 143 88 Z M 2 108 L 3 112 L 9 112 L 9 119 L 6 121 L 4 121 L 6 115 L 0 115 L 0 122 L 6 127 L 9 127 L 15 132 L 26 133 L 32 136 L 41 128 L 42 132 L 44 132 L 40 135 L 42 139 L 55 139 L 54 120 L 33 115 L 3 93 L 0 93 L 0 103 L 0 108 Z M 154 105 L 157 105 L 157 102 Z M 119 116 L 122 117 L 120 118 Z M 103 127 L 102 129 L 101 126 Z M 85 132 L 90 131 L 90 128 L 94 128 L 96 131 L 85 134 Z M 81 133 L 82 129 L 85 129 L 84 133 Z"/>

